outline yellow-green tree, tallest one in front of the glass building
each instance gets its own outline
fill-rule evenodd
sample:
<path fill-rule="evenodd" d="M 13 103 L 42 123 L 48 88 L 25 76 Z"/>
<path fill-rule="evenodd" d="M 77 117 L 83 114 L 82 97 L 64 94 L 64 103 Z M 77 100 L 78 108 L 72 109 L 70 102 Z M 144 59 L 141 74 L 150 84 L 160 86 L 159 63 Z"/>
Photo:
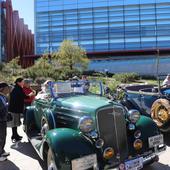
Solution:
<path fill-rule="evenodd" d="M 56 59 L 62 67 L 68 68 L 70 71 L 74 69 L 85 70 L 89 62 L 86 51 L 70 40 L 62 42 Z"/>

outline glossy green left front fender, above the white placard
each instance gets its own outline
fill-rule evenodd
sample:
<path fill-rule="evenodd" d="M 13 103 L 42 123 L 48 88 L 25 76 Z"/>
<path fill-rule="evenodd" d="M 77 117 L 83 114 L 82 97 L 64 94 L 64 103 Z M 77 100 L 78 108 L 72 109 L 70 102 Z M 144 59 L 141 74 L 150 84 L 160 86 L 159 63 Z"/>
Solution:
<path fill-rule="evenodd" d="M 58 128 L 50 130 L 47 132 L 46 141 L 55 155 L 59 169 L 64 169 L 65 166 L 70 167 L 72 159 L 95 153 L 93 143 L 73 129 Z"/>

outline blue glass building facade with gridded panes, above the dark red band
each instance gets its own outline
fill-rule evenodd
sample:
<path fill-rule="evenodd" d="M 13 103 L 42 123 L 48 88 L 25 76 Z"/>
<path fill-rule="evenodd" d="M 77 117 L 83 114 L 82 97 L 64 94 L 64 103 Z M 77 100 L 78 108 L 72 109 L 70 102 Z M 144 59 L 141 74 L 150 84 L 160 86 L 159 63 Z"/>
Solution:
<path fill-rule="evenodd" d="M 35 51 L 64 39 L 87 52 L 170 47 L 170 0 L 35 0 Z"/>

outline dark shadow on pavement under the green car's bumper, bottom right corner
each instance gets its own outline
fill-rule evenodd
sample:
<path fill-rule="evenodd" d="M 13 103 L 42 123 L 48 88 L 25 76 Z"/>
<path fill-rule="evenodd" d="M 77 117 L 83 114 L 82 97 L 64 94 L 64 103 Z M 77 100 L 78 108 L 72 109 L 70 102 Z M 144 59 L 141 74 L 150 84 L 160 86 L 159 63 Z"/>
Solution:
<path fill-rule="evenodd" d="M 170 170 L 170 167 L 168 165 L 155 162 L 152 165 L 144 167 L 143 170 Z"/>

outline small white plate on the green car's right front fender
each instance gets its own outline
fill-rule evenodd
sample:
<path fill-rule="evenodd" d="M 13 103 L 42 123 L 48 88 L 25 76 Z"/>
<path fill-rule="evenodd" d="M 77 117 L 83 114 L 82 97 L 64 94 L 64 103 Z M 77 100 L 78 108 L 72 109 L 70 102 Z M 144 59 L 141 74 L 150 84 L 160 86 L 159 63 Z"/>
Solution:
<path fill-rule="evenodd" d="M 155 146 L 161 145 L 164 143 L 163 135 L 152 136 L 148 139 L 149 148 L 153 148 Z"/>

